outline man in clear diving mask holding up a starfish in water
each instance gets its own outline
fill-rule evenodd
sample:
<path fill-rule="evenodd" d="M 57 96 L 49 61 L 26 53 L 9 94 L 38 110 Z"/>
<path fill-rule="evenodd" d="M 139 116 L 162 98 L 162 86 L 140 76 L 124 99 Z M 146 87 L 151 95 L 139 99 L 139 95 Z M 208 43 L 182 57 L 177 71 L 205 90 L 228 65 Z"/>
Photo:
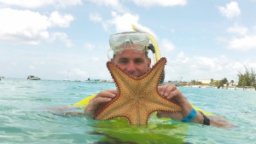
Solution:
<path fill-rule="evenodd" d="M 134 77 L 140 77 L 148 71 L 151 60 L 148 58 L 148 34 L 143 32 L 124 32 L 110 36 L 110 49 L 113 50 L 111 62 Z M 174 84 L 165 84 L 158 87 L 160 95 L 182 107 L 182 112 L 158 112 L 158 118 L 172 118 L 174 120 L 206 124 L 216 127 L 229 127 L 224 118 L 205 116 L 203 112 L 195 111 L 185 95 Z M 106 89 L 90 99 L 84 113 L 95 117 L 96 113 L 117 95 L 116 89 Z"/>

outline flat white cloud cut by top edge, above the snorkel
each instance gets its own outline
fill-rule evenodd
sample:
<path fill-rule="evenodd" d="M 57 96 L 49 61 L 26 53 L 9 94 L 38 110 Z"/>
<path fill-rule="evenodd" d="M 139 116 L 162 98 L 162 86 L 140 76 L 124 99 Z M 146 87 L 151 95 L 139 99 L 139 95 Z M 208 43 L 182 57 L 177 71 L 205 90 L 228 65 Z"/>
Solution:
<path fill-rule="evenodd" d="M 132 0 L 139 6 L 142 7 L 152 7 L 152 6 L 163 6 L 163 7 L 172 7 L 177 5 L 185 5 L 187 0 Z"/>

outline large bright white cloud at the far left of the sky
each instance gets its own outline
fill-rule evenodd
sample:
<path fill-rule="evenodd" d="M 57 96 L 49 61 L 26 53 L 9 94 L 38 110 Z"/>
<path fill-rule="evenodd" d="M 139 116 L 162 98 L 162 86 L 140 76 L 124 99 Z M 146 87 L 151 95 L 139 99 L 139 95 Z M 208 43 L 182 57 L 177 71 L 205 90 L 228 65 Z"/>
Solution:
<path fill-rule="evenodd" d="M 30 10 L 0 9 L 0 17 L 0 39 L 38 44 L 41 41 L 50 41 L 52 37 L 59 37 L 70 46 L 67 34 L 50 33 L 48 29 L 54 26 L 69 26 L 73 21 L 71 14 L 60 14 L 55 11 L 47 16 Z"/>

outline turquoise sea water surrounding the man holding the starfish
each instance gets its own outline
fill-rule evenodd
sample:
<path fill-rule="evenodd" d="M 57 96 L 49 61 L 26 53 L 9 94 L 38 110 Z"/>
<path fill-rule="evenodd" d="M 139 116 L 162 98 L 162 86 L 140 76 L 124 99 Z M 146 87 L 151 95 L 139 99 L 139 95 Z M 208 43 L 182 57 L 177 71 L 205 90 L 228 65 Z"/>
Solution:
<path fill-rule="evenodd" d="M 236 124 L 230 129 L 181 124 L 154 116 L 148 126 L 136 127 L 125 120 L 99 122 L 45 109 L 73 104 L 114 88 L 108 83 L 3 78 L 0 143 L 256 143 L 255 90 L 179 87 L 195 107 Z"/>

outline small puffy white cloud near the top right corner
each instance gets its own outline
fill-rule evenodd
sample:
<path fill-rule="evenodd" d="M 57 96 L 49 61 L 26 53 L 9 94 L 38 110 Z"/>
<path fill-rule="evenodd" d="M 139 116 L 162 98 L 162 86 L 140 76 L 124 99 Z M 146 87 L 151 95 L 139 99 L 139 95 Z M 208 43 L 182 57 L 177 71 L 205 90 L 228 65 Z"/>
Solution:
<path fill-rule="evenodd" d="M 225 17 L 232 19 L 241 13 L 238 3 L 230 2 L 226 4 L 226 7 L 218 7 L 218 10 Z"/>

